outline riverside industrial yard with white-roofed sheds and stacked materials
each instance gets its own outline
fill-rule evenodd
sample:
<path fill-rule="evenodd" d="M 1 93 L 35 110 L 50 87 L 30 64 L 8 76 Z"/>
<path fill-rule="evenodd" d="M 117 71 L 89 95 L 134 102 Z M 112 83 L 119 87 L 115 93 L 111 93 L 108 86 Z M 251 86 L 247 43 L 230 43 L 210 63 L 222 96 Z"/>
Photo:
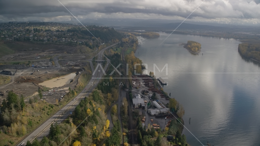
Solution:
<path fill-rule="evenodd" d="M 158 81 L 158 83 L 160 82 Z M 169 126 L 174 117 L 169 113 L 169 108 L 164 105 L 168 103 L 168 100 L 158 90 L 160 86 L 155 89 L 154 81 L 149 76 L 133 75 L 132 87 L 132 110 L 138 112 L 139 116 L 142 117 L 142 125 L 147 128 L 150 124 L 153 128 L 160 128 L 161 130 Z M 151 98 L 154 93 L 156 95 L 155 100 Z"/>

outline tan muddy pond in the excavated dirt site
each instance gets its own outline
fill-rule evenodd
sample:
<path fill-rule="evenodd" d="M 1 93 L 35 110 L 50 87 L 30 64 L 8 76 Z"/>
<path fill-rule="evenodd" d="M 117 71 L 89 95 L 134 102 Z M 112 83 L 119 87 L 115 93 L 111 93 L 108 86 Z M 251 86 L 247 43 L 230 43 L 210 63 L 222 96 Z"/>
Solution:
<path fill-rule="evenodd" d="M 39 85 L 46 86 L 48 88 L 61 87 L 65 84 L 69 84 L 72 79 L 76 76 L 76 73 L 71 73 L 69 75 L 60 76 L 57 78 L 53 78 L 48 81 L 44 81 Z"/>

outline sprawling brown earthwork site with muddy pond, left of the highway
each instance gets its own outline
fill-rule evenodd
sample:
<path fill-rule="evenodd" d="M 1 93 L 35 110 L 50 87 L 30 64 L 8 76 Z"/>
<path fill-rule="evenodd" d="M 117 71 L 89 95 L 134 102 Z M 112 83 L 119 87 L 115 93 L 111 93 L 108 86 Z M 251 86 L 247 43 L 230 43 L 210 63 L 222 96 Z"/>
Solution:
<path fill-rule="evenodd" d="M 0 58 L 0 76 L 11 78 L 0 85 L 0 103 L 9 91 L 23 94 L 25 101 L 37 96 L 38 89 L 43 92 L 44 100 L 54 104 L 60 100 L 69 87 L 74 89 L 79 76 L 91 75 L 90 62 L 98 51 L 62 45 L 32 45 L 19 43 L 5 44 L 10 48 L 24 48 L 16 53 Z M 74 49 L 73 49 L 74 48 Z M 84 51 L 82 51 L 84 49 Z M 75 54 L 86 52 L 86 54 Z M 69 76 L 69 78 L 67 77 Z M 44 84 L 52 80 L 53 82 Z M 49 94 L 50 91 L 52 94 Z M 53 92 L 55 90 L 55 92 Z"/>

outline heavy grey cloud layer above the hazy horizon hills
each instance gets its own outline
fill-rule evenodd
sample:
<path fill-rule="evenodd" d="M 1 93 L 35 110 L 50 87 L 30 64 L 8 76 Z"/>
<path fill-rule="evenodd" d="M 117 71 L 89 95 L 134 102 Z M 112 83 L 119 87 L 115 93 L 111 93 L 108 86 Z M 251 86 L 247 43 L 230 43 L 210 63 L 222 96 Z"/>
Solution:
<path fill-rule="evenodd" d="M 203 19 L 259 19 L 260 0 L 206 0 L 189 18 Z M 159 16 L 187 17 L 202 0 L 96 0 L 61 2 L 75 15 L 86 16 L 93 12 L 111 14 L 155 14 Z M 2 0 L 0 1 L 0 20 L 16 20 L 33 17 L 70 17 L 69 12 L 56 0 Z M 138 16 L 140 17 L 140 16 Z"/>

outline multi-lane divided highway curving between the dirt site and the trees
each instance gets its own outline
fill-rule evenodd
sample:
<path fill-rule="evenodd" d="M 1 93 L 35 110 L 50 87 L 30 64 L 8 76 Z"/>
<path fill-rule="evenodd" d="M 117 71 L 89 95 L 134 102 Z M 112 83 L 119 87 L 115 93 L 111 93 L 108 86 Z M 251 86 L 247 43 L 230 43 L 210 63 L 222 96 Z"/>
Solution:
<path fill-rule="evenodd" d="M 117 44 L 117 43 L 116 43 Z M 113 44 L 111 46 L 108 46 L 97 54 L 98 60 L 102 60 L 102 57 L 104 56 L 104 51 L 107 48 L 110 48 L 116 44 Z M 107 58 L 107 64 L 104 67 L 104 70 L 107 70 L 109 59 Z M 56 62 L 56 65 L 59 67 L 58 61 Z M 90 62 L 92 64 L 92 62 Z M 98 63 L 99 64 L 99 63 Z M 91 91 L 97 86 L 98 82 L 100 82 L 100 78 L 104 75 L 104 73 L 100 70 L 100 67 L 97 69 L 95 74 L 92 75 L 92 78 L 90 79 L 90 82 L 86 85 L 86 87 L 83 89 L 82 92 L 80 92 L 76 97 L 74 97 L 74 100 L 69 102 L 67 105 L 65 105 L 63 108 L 61 108 L 58 112 L 56 112 L 53 116 L 51 116 L 49 119 L 44 121 L 40 126 L 38 126 L 35 130 L 33 130 L 30 134 L 28 134 L 23 140 L 21 140 L 17 145 L 22 144 L 26 145 L 26 142 L 29 140 L 32 142 L 35 138 L 41 139 L 44 136 L 47 136 L 50 130 L 51 123 L 61 123 L 62 120 L 64 120 L 70 112 L 72 112 L 76 106 L 80 103 L 82 99 L 84 99 L 86 96 L 89 96 Z"/>

